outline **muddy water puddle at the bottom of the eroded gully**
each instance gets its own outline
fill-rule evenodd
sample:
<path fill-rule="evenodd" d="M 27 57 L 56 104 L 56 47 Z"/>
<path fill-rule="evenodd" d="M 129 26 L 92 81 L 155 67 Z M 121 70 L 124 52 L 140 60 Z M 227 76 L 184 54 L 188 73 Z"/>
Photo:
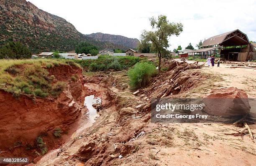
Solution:
<path fill-rule="evenodd" d="M 84 98 L 84 106 L 87 107 L 88 111 L 86 113 L 87 121 L 81 124 L 81 126 L 77 129 L 77 131 L 73 134 L 73 138 L 82 135 L 82 133 L 86 130 L 86 128 L 91 127 L 93 123 L 96 121 L 96 118 L 100 116 L 95 108 L 93 108 L 93 104 L 101 103 L 101 98 L 95 98 L 94 95 L 86 96 Z"/>

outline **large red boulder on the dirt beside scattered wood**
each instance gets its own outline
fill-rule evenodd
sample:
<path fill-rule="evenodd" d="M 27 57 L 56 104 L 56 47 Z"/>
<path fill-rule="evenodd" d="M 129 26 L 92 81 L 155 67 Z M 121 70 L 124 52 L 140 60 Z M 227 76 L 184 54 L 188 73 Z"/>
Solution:
<path fill-rule="evenodd" d="M 235 87 L 212 89 L 203 101 L 205 112 L 213 116 L 243 116 L 251 109 L 246 92 Z"/>

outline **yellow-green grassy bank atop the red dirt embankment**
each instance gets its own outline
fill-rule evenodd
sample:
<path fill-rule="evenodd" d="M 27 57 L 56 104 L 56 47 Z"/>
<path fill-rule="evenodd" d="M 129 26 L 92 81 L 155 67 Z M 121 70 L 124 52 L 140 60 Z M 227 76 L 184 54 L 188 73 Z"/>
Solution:
<path fill-rule="evenodd" d="M 20 94 L 46 97 L 58 96 L 65 87 L 64 82 L 55 82 L 47 68 L 60 64 L 78 66 L 72 60 L 0 60 L 0 89 L 13 96 Z"/>

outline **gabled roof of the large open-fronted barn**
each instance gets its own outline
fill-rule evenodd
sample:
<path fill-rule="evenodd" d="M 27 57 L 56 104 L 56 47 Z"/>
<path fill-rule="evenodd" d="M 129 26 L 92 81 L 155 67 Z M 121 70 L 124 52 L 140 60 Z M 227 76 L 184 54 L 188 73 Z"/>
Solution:
<path fill-rule="evenodd" d="M 232 30 L 220 35 L 212 36 L 202 43 L 202 47 L 207 45 L 243 45 L 248 44 L 249 39 L 245 33 L 240 30 Z"/>

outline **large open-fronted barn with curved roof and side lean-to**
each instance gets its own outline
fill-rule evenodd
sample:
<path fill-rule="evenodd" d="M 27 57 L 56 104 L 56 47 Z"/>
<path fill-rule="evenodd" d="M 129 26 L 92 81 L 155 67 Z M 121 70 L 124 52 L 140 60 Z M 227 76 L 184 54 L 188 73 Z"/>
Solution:
<path fill-rule="evenodd" d="M 191 53 L 203 58 L 209 55 L 220 55 L 220 58 L 226 60 L 255 60 L 256 53 L 253 53 L 251 47 L 253 45 L 250 44 L 247 35 L 237 29 L 206 39 L 200 49 L 193 50 Z"/>

